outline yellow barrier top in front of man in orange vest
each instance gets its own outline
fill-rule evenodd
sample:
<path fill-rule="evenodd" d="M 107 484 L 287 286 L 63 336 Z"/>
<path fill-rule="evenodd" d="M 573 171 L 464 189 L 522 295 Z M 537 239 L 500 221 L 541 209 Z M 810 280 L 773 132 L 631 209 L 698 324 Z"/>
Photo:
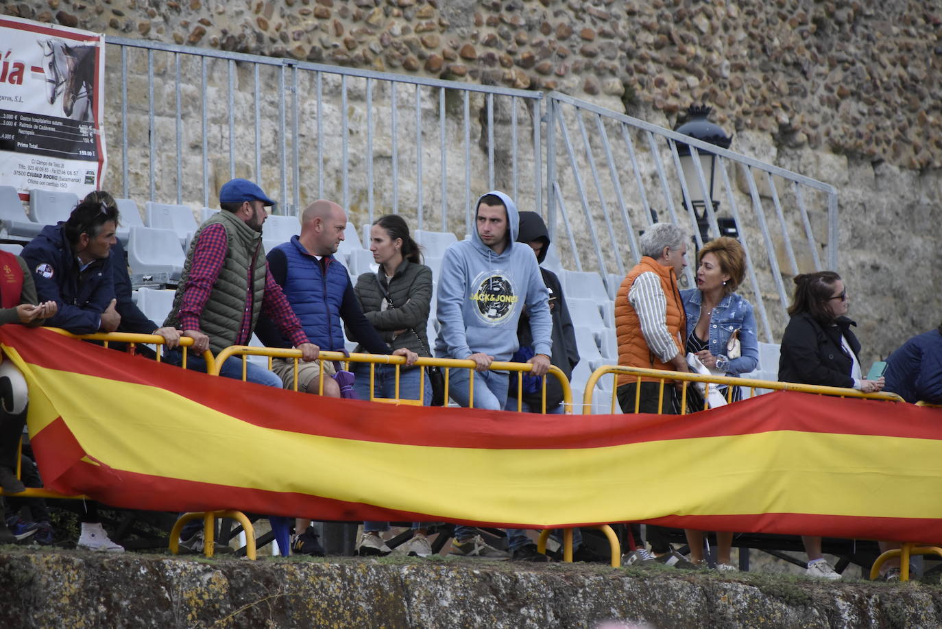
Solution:
<path fill-rule="evenodd" d="M 701 373 L 688 373 L 688 372 L 667 372 L 657 369 L 644 369 L 642 367 L 625 367 L 621 365 L 603 365 L 596 369 L 591 376 L 589 376 L 588 382 L 586 382 L 586 389 L 582 396 L 582 414 L 591 415 L 592 414 L 592 405 L 593 405 L 593 394 L 595 392 L 595 385 L 602 378 L 602 376 L 611 373 L 612 379 L 615 380 L 616 386 L 613 386 L 611 389 L 611 406 L 610 412 L 612 414 L 620 414 L 622 412 L 621 407 L 617 406 L 618 404 L 618 387 L 617 387 L 617 376 L 619 375 L 633 375 L 636 377 L 636 382 L 640 385 L 643 379 L 646 378 L 647 382 L 650 382 L 651 379 L 657 379 L 660 387 L 658 394 L 658 412 L 663 410 L 664 405 L 664 388 L 673 387 L 674 382 L 700 382 L 706 385 L 704 391 L 704 410 L 707 410 L 707 397 L 709 395 L 709 390 L 711 386 L 724 386 L 726 387 L 726 400 L 731 401 L 733 395 L 733 387 L 741 387 L 742 389 L 749 389 L 749 398 L 755 397 L 755 389 L 772 389 L 772 390 L 786 390 L 786 391 L 801 391 L 803 393 L 815 393 L 817 395 L 833 395 L 836 397 L 853 397 L 853 398 L 864 398 L 867 400 L 884 400 L 889 402 L 903 402 L 903 399 L 896 393 L 862 393 L 855 389 L 842 389 L 840 387 L 820 387 L 816 385 L 800 385 L 793 382 L 773 382 L 771 380 L 753 380 L 751 378 L 730 378 L 728 376 L 721 375 L 703 375 Z M 641 402 L 641 387 L 635 388 L 635 412 L 638 412 L 638 407 Z M 687 385 L 681 390 L 680 396 L 680 408 L 681 415 L 687 413 Z"/>

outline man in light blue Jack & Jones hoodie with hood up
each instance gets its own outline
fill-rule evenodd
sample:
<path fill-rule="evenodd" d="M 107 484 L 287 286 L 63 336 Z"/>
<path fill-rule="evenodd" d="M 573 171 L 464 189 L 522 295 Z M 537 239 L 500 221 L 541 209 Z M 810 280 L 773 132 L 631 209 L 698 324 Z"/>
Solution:
<path fill-rule="evenodd" d="M 548 292 L 533 250 L 516 242 L 517 207 L 494 190 L 478 199 L 471 240 L 455 242 L 442 258 L 438 280 L 438 339 L 435 356 L 470 359 L 474 372 L 451 370 L 448 392 L 460 406 L 471 406 L 469 381 L 474 377 L 474 407 L 500 410 L 507 401 L 509 375 L 489 371 L 495 360 L 510 360 L 519 347 L 517 323 L 526 305 L 535 356 L 530 373 L 549 371 L 553 322 Z M 506 559 L 507 553 L 484 543 L 468 526 L 455 527 L 453 555 Z"/>

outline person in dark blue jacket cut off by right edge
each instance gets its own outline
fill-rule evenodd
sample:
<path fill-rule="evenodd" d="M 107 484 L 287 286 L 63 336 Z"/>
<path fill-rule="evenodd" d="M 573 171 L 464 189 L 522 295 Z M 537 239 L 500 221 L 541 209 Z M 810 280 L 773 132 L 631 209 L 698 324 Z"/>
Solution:
<path fill-rule="evenodd" d="M 903 343 L 886 358 L 884 390 L 906 402 L 942 404 L 942 324 Z"/>

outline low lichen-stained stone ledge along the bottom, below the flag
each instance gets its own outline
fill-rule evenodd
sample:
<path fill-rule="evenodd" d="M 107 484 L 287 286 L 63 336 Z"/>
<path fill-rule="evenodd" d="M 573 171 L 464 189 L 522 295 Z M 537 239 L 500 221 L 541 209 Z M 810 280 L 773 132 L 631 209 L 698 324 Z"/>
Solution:
<path fill-rule="evenodd" d="M 251 562 L 11 548 L 0 554 L 0 625 L 9 629 L 596 629 L 606 621 L 657 629 L 889 629 L 942 623 L 942 591 L 918 583 L 820 583 L 586 564 Z"/>

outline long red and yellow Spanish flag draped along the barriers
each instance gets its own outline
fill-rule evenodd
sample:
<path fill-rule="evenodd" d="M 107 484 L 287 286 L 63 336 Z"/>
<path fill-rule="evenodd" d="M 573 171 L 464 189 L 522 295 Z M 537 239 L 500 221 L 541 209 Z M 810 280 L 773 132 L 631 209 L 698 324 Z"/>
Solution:
<path fill-rule="evenodd" d="M 942 538 L 942 410 L 776 392 L 692 415 L 333 400 L 0 327 L 43 479 L 138 509 Z"/>

